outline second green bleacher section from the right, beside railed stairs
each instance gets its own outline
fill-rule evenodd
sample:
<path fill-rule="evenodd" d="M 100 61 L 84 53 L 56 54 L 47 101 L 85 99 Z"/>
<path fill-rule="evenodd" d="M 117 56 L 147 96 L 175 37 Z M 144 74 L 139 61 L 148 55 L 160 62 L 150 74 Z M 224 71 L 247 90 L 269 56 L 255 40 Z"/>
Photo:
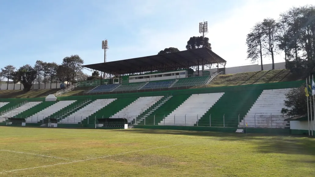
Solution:
<path fill-rule="evenodd" d="M 169 99 L 167 102 L 165 102 L 161 107 L 157 108 L 151 115 L 146 117 L 146 125 L 157 125 L 168 116 L 170 113 L 172 113 L 176 108 L 178 108 L 183 102 L 185 102 L 191 94 L 184 94 L 184 95 L 173 95 L 171 99 Z M 154 119 L 155 115 L 155 119 Z M 154 122 L 155 120 L 155 122 Z M 139 125 L 144 125 L 144 120 L 142 120 Z"/>

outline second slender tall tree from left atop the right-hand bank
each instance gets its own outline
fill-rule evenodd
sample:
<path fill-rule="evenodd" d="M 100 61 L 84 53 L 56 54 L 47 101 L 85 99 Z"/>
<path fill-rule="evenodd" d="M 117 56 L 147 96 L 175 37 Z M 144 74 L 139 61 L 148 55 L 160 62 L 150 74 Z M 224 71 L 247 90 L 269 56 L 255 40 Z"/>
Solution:
<path fill-rule="evenodd" d="M 271 55 L 272 60 L 272 69 L 275 69 L 275 63 L 274 63 L 274 53 L 275 53 L 275 47 L 274 45 L 276 43 L 276 36 L 278 33 L 277 23 L 276 20 L 268 18 L 264 19 L 262 22 L 262 29 L 264 33 L 263 47 L 267 50 L 267 55 Z"/>

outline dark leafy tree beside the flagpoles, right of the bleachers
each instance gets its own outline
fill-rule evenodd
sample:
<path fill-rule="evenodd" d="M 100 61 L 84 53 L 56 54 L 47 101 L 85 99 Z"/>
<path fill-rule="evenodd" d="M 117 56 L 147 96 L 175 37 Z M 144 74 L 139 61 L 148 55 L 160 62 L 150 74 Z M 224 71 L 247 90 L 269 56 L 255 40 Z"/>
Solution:
<path fill-rule="evenodd" d="M 305 97 L 305 84 L 299 88 L 294 88 L 289 93 L 285 94 L 285 108 L 282 108 L 281 113 L 288 116 L 307 115 L 307 102 Z"/>

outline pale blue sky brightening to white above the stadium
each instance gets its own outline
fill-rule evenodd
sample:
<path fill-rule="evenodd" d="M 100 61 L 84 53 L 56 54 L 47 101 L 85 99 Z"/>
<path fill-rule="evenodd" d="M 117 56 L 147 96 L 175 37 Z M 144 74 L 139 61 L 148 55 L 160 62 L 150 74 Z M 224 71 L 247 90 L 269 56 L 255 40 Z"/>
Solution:
<path fill-rule="evenodd" d="M 0 1 L 0 68 L 61 63 L 78 54 L 84 64 L 157 54 L 166 47 L 185 50 L 198 23 L 208 21 L 215 53 L 227 66 L 248 64 L 246 34 L 263 18 L 311 0 L 10 0 Z M 283 61 L 281 55 L 276 61 Z M 265 60 L 264 63 L 270 63 Z M 88 73 L 89 74 L 89 73 Z"/>

